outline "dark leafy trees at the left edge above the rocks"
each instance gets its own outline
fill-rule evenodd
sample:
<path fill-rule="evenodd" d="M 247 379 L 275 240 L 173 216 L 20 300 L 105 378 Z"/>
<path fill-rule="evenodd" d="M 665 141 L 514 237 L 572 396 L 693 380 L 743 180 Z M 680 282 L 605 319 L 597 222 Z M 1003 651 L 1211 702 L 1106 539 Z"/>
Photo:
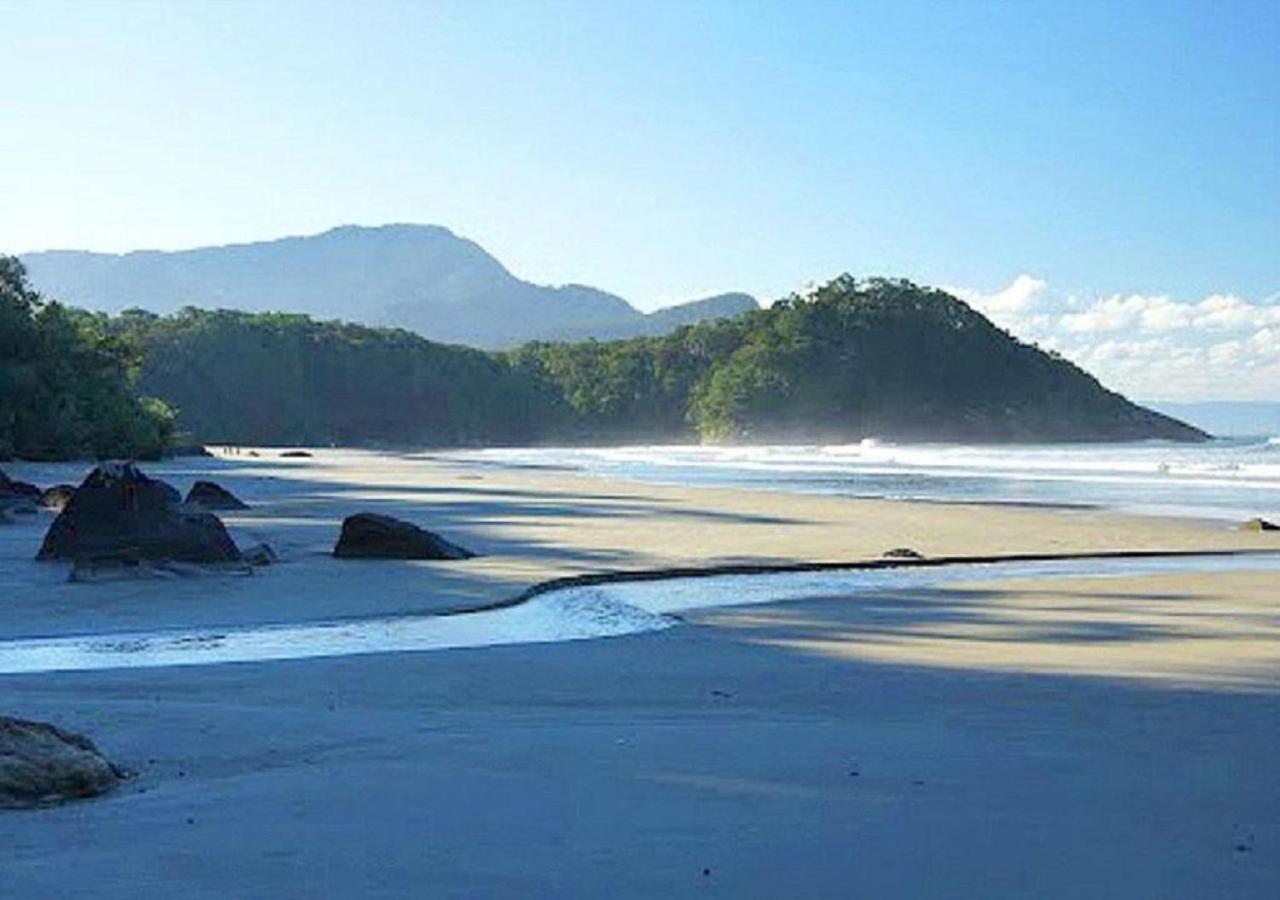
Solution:
<path fill-rule="evenodd" d="M 0 458 L 157 456 L 173 414 L 137 397 L 136 367 L 105 316 L 45 301 L 0 256 Z"/>

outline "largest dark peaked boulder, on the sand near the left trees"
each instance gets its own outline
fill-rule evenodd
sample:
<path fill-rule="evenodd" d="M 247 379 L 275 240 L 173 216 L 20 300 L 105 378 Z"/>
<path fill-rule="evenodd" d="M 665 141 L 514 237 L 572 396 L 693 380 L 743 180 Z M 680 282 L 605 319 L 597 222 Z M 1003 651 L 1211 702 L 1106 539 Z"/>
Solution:
<path fill-rule="evenodd" d="M 241 552 L 218 516 L 187 510 L 174 488 L 132 462 L 106 462 L 76 489 L 36 558 L 218 563 L 241 562 Z"/>

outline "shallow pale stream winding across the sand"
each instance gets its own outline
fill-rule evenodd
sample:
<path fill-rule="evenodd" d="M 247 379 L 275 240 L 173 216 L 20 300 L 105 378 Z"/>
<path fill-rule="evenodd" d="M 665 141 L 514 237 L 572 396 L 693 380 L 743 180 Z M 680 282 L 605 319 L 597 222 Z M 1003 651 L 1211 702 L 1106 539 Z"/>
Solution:
<path fill-rule="evenodd" d="M 961 584 L 996 577 L 1133 576 L 1178 571 L 1280 571 L 1280 554 L 1069 559 L 829 570 L 630 581 L 567 588 L 520 606 L 458 616 L 408 616 L 234 629 L 188 629 L 0 641 L 0 675 L 410 653 L 545 644 L 659 631 L 671 613 Z"/>

